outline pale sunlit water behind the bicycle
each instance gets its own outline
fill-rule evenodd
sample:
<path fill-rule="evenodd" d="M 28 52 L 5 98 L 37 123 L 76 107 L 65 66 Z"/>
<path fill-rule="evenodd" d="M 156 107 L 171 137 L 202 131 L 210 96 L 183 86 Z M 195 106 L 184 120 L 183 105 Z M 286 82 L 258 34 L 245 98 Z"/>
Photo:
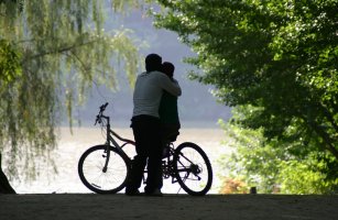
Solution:
<path fill-rule="evenodd" d="M 127 139 L 133 139 L 131 129 L 116 129 L 118 134 Z M 219 166 L 221 155 L 228 153 L 228 148 L 221 141 L 225 139 L 221 129 L 182 129 L 176 144 L 182 142 L 194 142 L 203 147 L 208 155 L 214 169 L 214 183 L 209 193 L 217 194 L 221 185 L 220 175 L 226 170 Z M 80 182 L 77 173 L 77 163 L 80 155 L 90 146 L 105 143 L 103 134 L 97 128 L 73 129 L 70 134 L 68 128 L 61 129 L 58 148 L 53 153 L 57 165 L 57 174 L 42 175 L 32 183 L 12 183 L 19 194 L 73 194 L 91 193 Z M 134 148 L 127 150 L 129 156 L 134 155 Z M 143 187 L 142 187 L 143 188 Z M 141 188 L 141 189 L 142 189 Z M 171 179 L 164 182 L 163 193 L 176 194 L 178 184 L 172 184 Z"/>

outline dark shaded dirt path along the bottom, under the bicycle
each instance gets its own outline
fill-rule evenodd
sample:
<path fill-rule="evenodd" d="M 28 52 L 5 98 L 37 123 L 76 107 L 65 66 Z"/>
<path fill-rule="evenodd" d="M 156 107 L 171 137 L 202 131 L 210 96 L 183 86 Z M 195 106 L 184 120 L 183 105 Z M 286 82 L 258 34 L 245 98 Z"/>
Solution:
<path fill-rule="evenodd" d="M 338 196 L 0 195 L 1 220 L 338 219 Z"/>

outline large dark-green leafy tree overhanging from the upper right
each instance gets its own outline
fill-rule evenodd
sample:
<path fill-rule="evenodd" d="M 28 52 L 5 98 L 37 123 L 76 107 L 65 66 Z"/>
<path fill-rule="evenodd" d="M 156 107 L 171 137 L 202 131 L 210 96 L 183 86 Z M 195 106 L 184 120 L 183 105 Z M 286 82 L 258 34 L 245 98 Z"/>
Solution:
<path fill-rule="evenodd" d="M 159 2 L 156 25 L 177 32 L 197 53 L 187 58 L 200 70 L 192 78 L 214 85 L 220 101 L 241 109 L 238 127 L 259 132 L 263 148 L 297 163 L 320 164 L 331 160 L 329 152 L 336 160 L 330 169 L 337 170 L 337 0 Z M 242 144 L 257 141 L 255 134 L 246 139 Z M 268 152 L 259 155 L 272 164 Z M 313 166 L 298 167 L 313 174 Z M 337 179 L 330 169 L 319 173 Z"/>

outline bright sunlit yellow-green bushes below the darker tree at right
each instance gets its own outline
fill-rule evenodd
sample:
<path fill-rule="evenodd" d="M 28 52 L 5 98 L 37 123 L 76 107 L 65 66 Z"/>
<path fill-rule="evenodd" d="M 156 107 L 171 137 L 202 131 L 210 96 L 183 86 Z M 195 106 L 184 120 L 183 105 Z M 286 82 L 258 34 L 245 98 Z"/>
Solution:
<path fill-rule="evenodd" d="M 233 118 L 242 117 L 242 111 L 236 108 Z M 310 150 L 317 147 L 312 143 L 299 147 L 296 142 L 268 140 L 262 130 L 243 129 L 236 120 L 220 125 L 232 140 L 227 143 L 232 153 L 221 158 L 230 169 L 225 179 L 240 178 L 260 194 L 337 193 L 338 163 L 328 152 Z"/>

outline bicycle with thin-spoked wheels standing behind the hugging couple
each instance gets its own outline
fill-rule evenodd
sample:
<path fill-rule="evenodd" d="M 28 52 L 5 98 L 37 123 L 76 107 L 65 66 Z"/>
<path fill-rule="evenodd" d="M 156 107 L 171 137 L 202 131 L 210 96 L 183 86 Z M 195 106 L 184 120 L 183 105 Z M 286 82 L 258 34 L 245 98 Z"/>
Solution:
<path fill-rule="evenodd" d="M 97 194 L 116 194 L 126 187 L 130 175 L 131 158 L 123 151 L 127 145 L 135 145 L 111 130 L 110 118 L 103 114 L 108 102 L 102 105 L 96 122 L 106 130 L 106 143 L 89 147 L 79 158 L 78 174 L 83 184 Z M 118 144 L 118 139 L 122 144 Z M 195 143 L 184 142 L 177 147 L 173 142 L 166 145 L 163 155 L 163 178 L 172 178 L 192 196 L 204 196 L 211 188 L 212 168 L 206 153 Z M 146 169 L 143 174 L 145 182 Z"/>

